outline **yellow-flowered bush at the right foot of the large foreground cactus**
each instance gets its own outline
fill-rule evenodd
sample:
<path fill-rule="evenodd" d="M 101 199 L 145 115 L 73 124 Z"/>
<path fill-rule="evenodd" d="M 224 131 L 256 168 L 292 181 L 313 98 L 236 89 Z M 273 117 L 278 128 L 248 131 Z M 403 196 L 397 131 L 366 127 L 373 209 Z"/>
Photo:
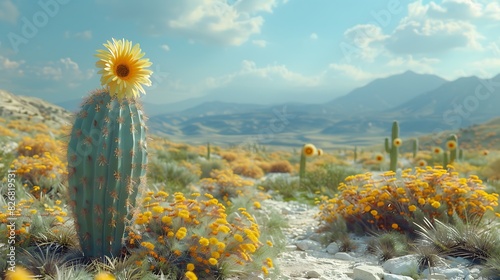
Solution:
<path fill-rule="evenodd" d="M 248 268 L 254 262 L 272 264 L 259 259 L 272 244 L 260 241 L 254 217 L 244 208 L 228 215 L 211 194 L 150 192 L 138 210 L 126 244 L 147 257 L 155 272 L 207 279 L 232 271 L 251 272 Z"/>

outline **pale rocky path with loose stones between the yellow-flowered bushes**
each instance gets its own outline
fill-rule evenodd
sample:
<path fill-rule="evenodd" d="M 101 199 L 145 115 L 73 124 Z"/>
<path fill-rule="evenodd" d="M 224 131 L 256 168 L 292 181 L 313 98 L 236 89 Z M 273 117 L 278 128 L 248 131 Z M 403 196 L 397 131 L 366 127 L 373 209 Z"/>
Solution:
<path fill-rule="evenodd" d="M 316 232 L 318 222 L 314 219 L 318 208 L 296 202 L 266 200 L 264 211 L 278 210 L 288 221 L 285 229 L 288 245 L 276 264 L 280 269 L 278 279 L 357 279 L 357 280 L 410 280 L 408 275 L 416 271 L 417 260 L 409 255 L 379 263 L 377 257 L 366 252 L 368 237 L 355 237 L 354 252 L 338 251 L 338 245 L 322 245 L 321 234 Z M 486 279 L 480 277 L 481 267 L 464 259 L 443 259 L 443 265 L 433 269 L 432 275 L 424 271 L 422 279 Z"/>

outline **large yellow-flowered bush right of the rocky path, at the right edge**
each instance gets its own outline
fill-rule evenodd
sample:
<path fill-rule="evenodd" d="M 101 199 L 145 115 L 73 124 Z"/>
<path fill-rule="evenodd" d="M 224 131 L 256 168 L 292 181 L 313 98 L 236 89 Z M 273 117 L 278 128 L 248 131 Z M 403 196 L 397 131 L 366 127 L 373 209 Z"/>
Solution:
<path fill-rule="evenodd" d="M 424 217 L 447 221 L 457 215 L 465 220 L 493 212 L 498 194 L 487 193 L 477 176 L 461 178 L 449 167 L 408 169 L 401 179 L 392 171 L 377 177 L 371 173 L 349 176 L 333 198 L 318 199 L 317 218 L 325 225 L 343 218 L 351 227 L 413 233 L 413 222 Z"/>

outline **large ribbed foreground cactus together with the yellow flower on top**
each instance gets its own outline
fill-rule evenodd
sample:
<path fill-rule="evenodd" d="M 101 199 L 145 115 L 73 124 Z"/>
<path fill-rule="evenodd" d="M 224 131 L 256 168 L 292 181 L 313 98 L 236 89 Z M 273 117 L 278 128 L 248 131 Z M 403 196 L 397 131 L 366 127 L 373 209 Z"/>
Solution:
<path fill-rule="evenodd" d="M 136 98 L 151 85 L 138 44 L 113 39 L 99 50 L 102 90 L 77 114 L 68 143 L 70 205 L 88 258 L 116 257 L 146 180 L 146 124 Z"/>

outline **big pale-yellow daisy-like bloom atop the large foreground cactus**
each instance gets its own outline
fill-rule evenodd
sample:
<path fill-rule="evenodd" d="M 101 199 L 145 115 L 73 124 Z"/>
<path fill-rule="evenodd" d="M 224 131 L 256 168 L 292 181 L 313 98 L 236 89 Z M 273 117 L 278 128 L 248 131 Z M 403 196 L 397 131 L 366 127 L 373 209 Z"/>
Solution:
<path fill-rule="evenodd" d="M 143 85 L 150 86 L 149 77 L 153 73 L 146 69 L 151 66 L 149 59 L 142 58 L 139 44 L 122 39 L 108 41 L 105 50 L 98 50 L 95 55 L 99 60 L 96 66 L 101 68 L 101 85 L 107 87 L 109 94 L 118 98 L 137 98 L 139 92 L 146 93 Z"/>

